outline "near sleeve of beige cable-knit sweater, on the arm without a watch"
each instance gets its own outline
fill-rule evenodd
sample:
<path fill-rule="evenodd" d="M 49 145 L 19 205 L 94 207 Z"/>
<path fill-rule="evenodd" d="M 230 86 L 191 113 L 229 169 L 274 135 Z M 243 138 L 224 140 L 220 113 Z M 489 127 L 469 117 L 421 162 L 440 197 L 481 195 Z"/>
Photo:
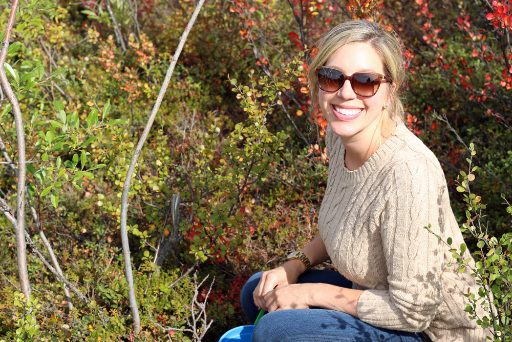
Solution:
<path fill-rule="evenodd" d="M 429 327 L 442 303 L 442 171 L 424 156 L 397 166 L 380 216 L 389 290 L 365 290 L 357 314 L 373 326 L 420 332 Z"/>

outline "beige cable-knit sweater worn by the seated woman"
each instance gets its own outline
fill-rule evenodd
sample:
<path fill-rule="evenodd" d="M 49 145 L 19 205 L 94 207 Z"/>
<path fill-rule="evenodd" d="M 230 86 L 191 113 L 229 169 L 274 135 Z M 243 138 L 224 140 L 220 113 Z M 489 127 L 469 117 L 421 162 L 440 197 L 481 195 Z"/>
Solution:
<path fill-rule="evenodd" d="M 434 342 L 486 340 L 487 331 L 463 310 L 462 293 L 478 289 L 471 271 L 446 267 L 452 253 L 423 229 L 431 224 L 443 239 L 452 237 L 452 246 L 464 242 L 435 155 L 403 125 L 355 171 L 345 167 L 345 149 L 330 127 L 326 145 L 329 176 L 318 226 L 334 267 L 364 290 L 359 318 L 425 331 Z"/>

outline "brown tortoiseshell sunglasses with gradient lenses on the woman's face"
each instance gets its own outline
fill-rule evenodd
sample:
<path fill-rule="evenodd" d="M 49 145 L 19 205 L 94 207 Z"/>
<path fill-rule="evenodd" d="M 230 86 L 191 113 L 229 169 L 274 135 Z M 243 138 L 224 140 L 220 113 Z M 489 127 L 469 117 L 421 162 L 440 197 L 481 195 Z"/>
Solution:
<path fill-rule="evenodd" d="M 338 91 L 343 87 L 347 79 L 354 92 L 361 97 L 372 97 L 377 93 L 382 80 L 391 82 L 391 78 L 385 75 L 376 75 L 371 72 L 356 72 L 352 76 L 346 76 L 343 72 L 334 68 L 316 68 L 318 87 L 328 93 Z"/>

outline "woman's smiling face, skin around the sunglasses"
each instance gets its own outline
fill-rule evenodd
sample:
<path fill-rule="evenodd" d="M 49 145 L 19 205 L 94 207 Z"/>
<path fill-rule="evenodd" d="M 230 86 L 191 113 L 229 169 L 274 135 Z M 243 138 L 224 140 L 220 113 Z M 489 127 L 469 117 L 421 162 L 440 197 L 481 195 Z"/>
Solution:
<path fill-rule="evenodd" d="M 349 43 L 338 48 L 327 59 L 326 67 L 333 67 L 350 76 L 356 72 L 384 74 L 382 62 L 374 48 L 368 43 Z M 361 97 L 345 81 L 335 92 L 319 90 L 318 102 L 327 122 L 334 133 L 348 142 L 370 143 L 380 135 L 381 115 L 390 100 L 386 81 L 383 81 L 375 95 Z M 393 85 L 394 89 L 394 85 Z"/>

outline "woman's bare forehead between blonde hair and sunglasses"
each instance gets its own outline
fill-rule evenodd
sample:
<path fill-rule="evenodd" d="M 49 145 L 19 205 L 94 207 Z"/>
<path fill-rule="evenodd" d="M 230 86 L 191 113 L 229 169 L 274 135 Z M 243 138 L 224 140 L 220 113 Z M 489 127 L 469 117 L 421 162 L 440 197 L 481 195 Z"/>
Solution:
<path fill-rule="evenodd" d="M 358 71 L 383 73 L 382 61 L 375 49 L 368 43 L 357 42 L 337 48 L 327 59 L 326 66 L 336 67 L 346 74 Z"/>

